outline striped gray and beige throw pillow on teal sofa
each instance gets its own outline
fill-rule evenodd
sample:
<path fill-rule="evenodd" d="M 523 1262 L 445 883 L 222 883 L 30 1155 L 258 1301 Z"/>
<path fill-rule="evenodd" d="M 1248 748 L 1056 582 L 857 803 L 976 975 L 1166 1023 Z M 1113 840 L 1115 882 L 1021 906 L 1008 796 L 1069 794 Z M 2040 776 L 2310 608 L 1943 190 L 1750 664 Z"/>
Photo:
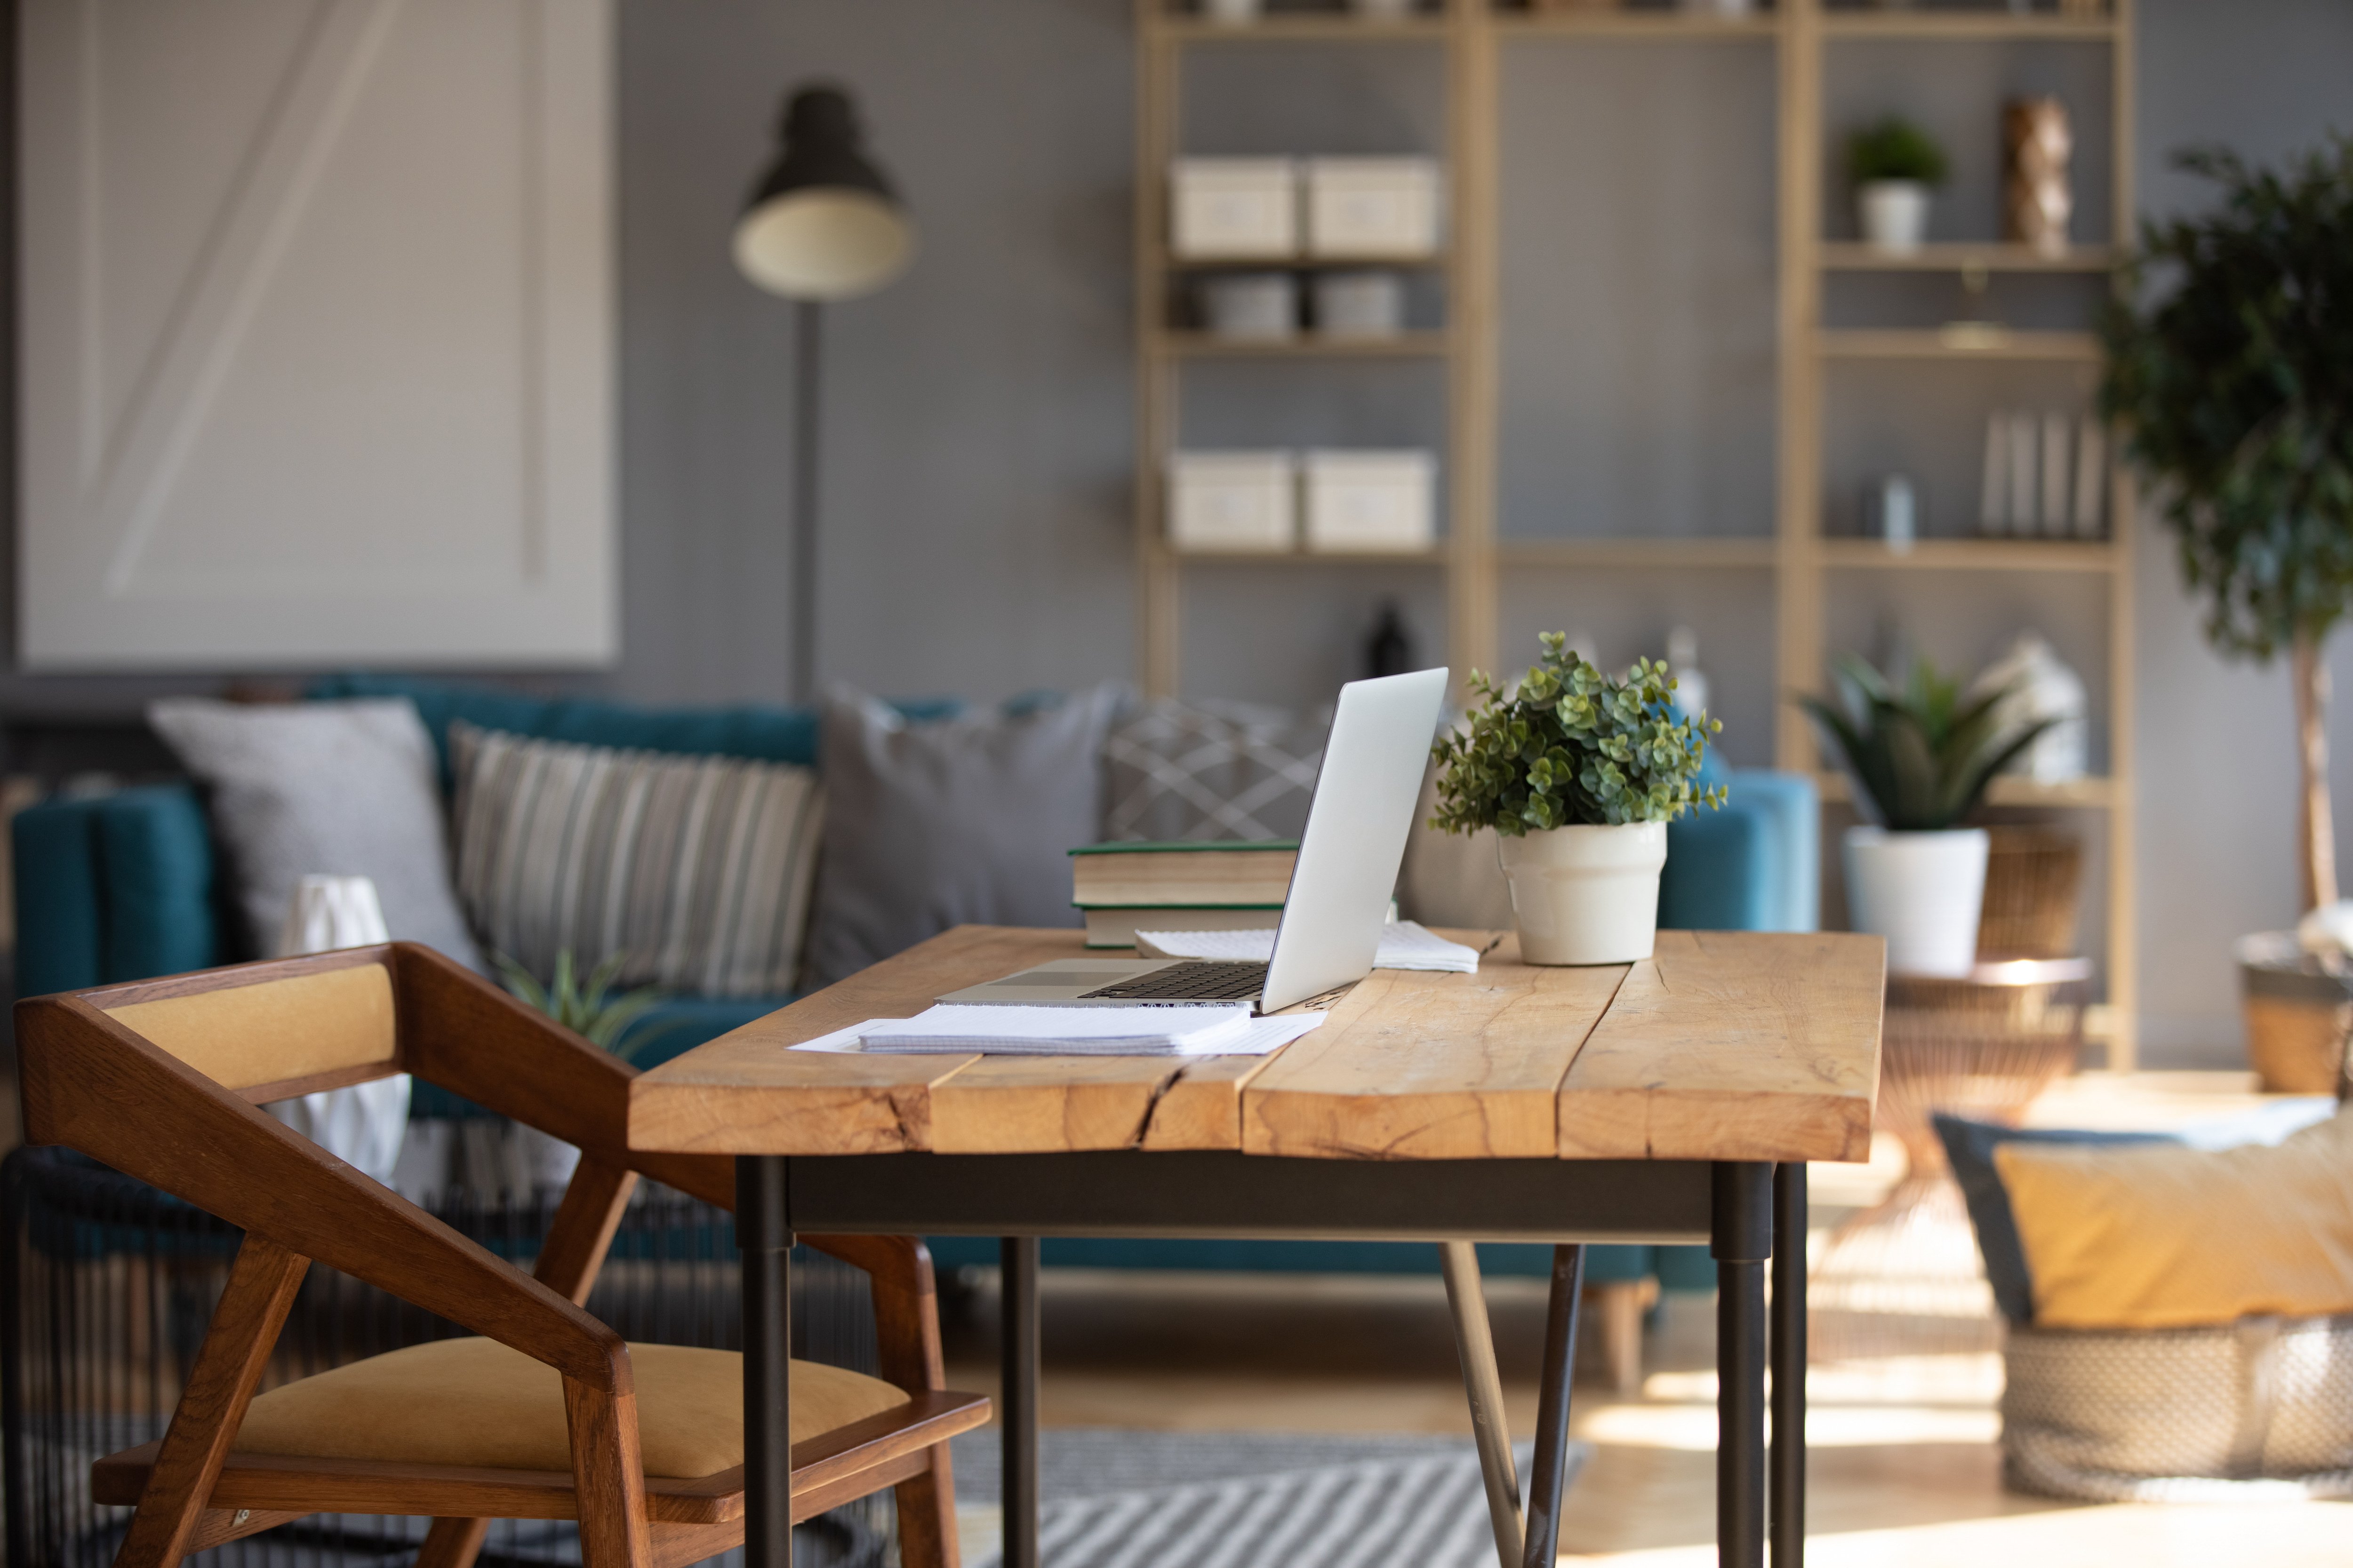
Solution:
<path fill-rule="evenodd" d="M 824 837 L 812 769 L 449 726 L 456 893 L 534 976 L 626 954 L 621 985 L 779 997 Z"/>

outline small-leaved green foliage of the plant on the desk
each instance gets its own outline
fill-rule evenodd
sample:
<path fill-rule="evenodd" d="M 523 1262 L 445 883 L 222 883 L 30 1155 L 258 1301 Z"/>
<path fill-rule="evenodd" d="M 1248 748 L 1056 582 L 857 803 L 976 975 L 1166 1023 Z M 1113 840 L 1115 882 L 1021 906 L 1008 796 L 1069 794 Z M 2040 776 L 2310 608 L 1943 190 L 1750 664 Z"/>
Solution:
<path fill-rule="evenodd" d="M 1478 670 L 1485 698 L 1464 731 L 1431 748 L 1438 816 L 1431 827 L 1504 837 L 1569 825 L 1671 823 L 1692 806 L 1722 806 L 1722 785 L 1694 790 L 1706 736 L 1722 722 L 1675 712 L 1675 677 L 1638 661 L 1602 675 L 1544 632 L 1537 668 L 1504 691 Z"/>

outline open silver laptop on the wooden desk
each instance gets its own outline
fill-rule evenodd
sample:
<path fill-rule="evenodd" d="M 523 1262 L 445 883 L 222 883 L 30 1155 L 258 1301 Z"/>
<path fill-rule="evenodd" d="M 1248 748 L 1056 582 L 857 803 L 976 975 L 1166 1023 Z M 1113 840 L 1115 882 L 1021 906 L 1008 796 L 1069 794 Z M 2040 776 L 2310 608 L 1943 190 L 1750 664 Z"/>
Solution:
<path fill-rule="evenodd" d="M 1299 863 L 1266 964 L 1202 959 L 1056 959 L 948 992 L 939 1001 L 1012 1006 L 1174 1006 L 1247 1001 L 1275 1013 L 1372 973 L 1388 896 L 1414 830 L 1421 773 L 1447 701 L 1445 670 L 1339 689 Z"/>

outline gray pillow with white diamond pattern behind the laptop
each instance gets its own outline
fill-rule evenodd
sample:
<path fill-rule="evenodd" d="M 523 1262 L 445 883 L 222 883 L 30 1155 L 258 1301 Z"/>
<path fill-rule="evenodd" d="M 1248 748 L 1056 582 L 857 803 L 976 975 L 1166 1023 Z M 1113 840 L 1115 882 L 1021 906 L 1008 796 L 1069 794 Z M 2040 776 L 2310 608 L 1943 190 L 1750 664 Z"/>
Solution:
<path fill-rule="evenodd" d="M 1332 715 L 1146 703 L 1104 743 L 1104 839 L 1297 839 Z"/>

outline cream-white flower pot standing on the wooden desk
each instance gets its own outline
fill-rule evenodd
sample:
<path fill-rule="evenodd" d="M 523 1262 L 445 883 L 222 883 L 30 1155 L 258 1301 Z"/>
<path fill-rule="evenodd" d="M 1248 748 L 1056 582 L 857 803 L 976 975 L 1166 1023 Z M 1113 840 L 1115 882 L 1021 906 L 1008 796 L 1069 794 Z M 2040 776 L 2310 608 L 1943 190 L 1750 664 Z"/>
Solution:
<path fill-rule="evenodd" d="M 1631 964 L 1659 936 L 1666 823 L 1553 827 L 1497 839 L 1529 964 Z"/>

